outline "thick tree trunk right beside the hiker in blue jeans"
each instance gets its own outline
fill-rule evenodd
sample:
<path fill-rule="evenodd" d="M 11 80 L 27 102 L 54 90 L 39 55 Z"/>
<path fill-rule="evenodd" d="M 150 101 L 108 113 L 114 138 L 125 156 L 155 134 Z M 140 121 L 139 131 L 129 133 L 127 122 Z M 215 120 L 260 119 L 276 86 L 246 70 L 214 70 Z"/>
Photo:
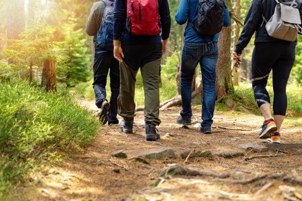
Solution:
<path fill-rule="evenodd" d="M 216 64 L 217 99 L 234 91 L 231 77 L 231 26 L 223 28 L 219 35 L 218 60 Z"/>

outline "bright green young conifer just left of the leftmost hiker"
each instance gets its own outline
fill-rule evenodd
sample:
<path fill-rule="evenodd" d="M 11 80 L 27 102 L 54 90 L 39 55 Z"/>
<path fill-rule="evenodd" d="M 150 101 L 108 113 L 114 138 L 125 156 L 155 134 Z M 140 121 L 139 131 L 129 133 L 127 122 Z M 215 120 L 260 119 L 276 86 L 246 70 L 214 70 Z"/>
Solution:
<path fill-rule="evenodd" d="M 58 55 L 66 55 L 65 67 L 67 71 L 61 71 L 58 76 L 63 77 L 67 86 L 74 86 L 79 82 L 86 82 L 90 76 L 90 54 L 85 46 L 87 38 L 83 29 L 76 29 L 76 19 L 69 18 L 68 22 L 62 25 L 64 43 L 57 49 Z"/>

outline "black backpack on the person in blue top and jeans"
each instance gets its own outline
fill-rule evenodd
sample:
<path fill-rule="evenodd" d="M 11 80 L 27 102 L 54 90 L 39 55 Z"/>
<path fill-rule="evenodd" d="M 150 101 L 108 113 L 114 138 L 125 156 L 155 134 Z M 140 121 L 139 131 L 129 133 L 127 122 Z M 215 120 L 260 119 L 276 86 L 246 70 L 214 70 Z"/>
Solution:
<path fill-rule="evenodd" d="M 197 18 L 192 22 L 194 30 L 203 36 L 213 36 L 224 25 L 223 0 L 199 0 Z"/>

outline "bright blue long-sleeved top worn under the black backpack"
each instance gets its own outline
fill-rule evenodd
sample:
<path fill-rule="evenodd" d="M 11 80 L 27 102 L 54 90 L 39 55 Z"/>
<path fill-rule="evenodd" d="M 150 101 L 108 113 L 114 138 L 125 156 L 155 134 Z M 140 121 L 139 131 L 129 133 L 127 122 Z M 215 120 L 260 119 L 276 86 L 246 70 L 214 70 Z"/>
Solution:
<path fill-rule="evenodd" d="M 224 6 L 224 27 L 228 27 L 230 25 L 230 16 L 225 3 Z M 211 36 L 202 37 L 192 27 L 191 23 L 197 18 L 197 9 L 198 0 L 181 0 L 178 11 L 175 14 L 177 24 L 183 25 L 188 22 L 184 34 L 185 42 L 205 42 L 204 39 L 208 42 L 211 41 Z M 212 41 L 218 42 L 218 37 L 219 33 L 215 34 Z"/>

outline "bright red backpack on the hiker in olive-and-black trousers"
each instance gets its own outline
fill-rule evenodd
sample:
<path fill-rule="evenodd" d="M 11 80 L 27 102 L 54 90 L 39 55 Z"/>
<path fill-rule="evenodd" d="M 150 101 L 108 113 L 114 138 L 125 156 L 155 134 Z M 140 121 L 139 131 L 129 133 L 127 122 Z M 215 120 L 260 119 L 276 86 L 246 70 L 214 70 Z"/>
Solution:
<path fill-rule="evenodd" d="M 158 0 L 127 0 L 127 30 L 132 35 L 160 33 Z"/>

